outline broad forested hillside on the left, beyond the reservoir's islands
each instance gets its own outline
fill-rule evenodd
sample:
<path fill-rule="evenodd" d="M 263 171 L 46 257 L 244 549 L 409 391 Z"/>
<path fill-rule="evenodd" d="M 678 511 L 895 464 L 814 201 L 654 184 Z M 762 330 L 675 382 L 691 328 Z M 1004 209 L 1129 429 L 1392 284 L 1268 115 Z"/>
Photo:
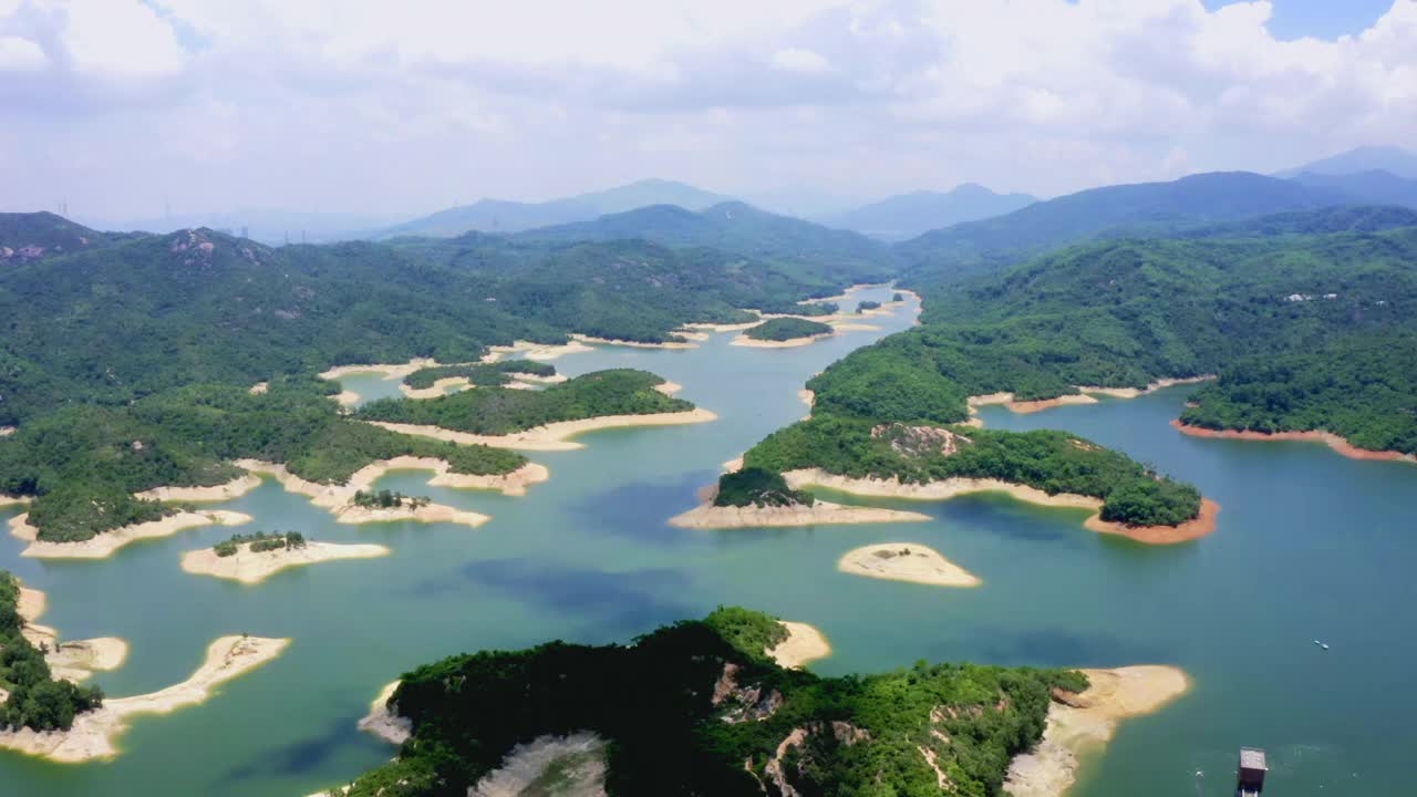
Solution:
<path fill-rule="evenodd" d="M 829 272 L 645 241 L 475 234 L 269 248 L 210 230 L 125 237 L 0 269 L 0 425 L 190 383 L 466 362 L 514 339 L 657 342 L 686 322 L 745 321 L 738 308 L 791 308 L 859 278 Z"/>

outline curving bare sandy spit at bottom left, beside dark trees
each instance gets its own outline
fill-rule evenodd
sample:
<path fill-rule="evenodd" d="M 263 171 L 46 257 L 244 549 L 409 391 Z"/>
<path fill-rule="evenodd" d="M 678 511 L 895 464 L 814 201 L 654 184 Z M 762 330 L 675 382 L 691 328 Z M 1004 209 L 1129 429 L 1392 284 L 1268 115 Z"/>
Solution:
<path fill-rule="evenodd" d="M 0 747 L 60 763 L 116 757 L 116 739 L 128 730 L 129 718 L 140 713 L 171 713 L 205 702 L 214 688 L 281 655 L 290 640 L 221 637 L 207 647 L 207 661 L 181 684 L 160 692 L 132 698 L 108 698 L 103 708 L 81 713 L 74 728 L 48 733 L 0 732 Z"/>

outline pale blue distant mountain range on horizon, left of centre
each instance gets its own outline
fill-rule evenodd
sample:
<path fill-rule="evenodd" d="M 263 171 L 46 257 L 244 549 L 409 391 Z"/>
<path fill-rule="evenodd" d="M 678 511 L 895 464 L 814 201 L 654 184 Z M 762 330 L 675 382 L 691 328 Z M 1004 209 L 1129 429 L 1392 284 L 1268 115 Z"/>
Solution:
<path fill-rule="evenodd" d="M 731 201 L 731 199 L 673 180 L 640 180 L 604 191 L 540 203 L 485 199 L 405 221 L 380 231 L 376 237 L 429 235 L 446 238 L 472 231 L 520 233 L 537 227 L 589 221 L 609 213 L 623 213 L 655 204 L 703 210 L 713 204 Z"/>

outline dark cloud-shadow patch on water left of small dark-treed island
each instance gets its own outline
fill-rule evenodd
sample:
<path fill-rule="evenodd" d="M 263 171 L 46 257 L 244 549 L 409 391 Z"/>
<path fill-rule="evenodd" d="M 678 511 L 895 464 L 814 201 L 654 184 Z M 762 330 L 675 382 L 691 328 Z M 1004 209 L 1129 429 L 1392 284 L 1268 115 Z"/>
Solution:
<path fill-rule="evenodd" d="M 693 545 L 694 535 L 667 523 L 699 503 L 699 492 L 718 481 L 717 471 L 694 471 L 673 481 L 629 482 L 575 501 L 577 528 L 665 547 Z"/>

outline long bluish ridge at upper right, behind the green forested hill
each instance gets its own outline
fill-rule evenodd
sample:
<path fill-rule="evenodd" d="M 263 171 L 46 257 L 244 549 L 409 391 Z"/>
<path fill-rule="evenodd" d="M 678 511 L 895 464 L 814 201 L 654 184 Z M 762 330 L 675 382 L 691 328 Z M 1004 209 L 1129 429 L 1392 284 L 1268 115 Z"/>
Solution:
<path fill-rule="evenodd" d="M 1091 238 L 1166 235 L 1189 227 L 1287 210 L 1350 204 L 1346 194 L 1247 172 L 1192 174 L 1170 183 L 1107 186 L 956 224 L 897 245 L 920 284 L 999 271 Z"/>

